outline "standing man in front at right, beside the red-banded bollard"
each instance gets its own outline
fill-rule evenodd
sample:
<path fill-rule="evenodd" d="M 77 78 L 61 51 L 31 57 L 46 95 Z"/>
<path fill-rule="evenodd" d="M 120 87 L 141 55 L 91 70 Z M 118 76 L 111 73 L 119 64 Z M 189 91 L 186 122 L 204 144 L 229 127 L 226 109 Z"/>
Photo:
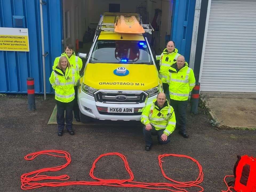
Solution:
<path fill-rule="evenodd" d="M 176 128 L 179 129 L 179 134 L 184 138 L 188 138 L 186 133 L 186 107 L 189 92 L 195 86 L 195 75 L 191 68 L 185 62 L 185 57 L 180 55 L 177 58 L 177 63 L 169 68 L 167 78 L 169 84 L 170 105 L 174 108 L 176 115 Z"/>

